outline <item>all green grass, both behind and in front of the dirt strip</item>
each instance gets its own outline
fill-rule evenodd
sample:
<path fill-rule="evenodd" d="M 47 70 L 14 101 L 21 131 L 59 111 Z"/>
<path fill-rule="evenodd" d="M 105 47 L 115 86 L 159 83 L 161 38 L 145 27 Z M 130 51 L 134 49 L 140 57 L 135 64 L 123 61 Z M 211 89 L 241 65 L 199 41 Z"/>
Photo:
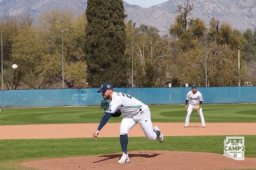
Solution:
<path fill-rule="evenodd" d="M 204 104 L 203 114 L 208 122 L 256 122 L 256 104 Z M 184 122 L 184 105 L 149 106 L 153 122 Z M 27 125 L 49 123 L 99 123 L 103 112 L 98 107 L 60 108 L 3 108 L 0 125 Z M 120 122 L 110 118 L 109 122 Z M 200 122 L 193 111 L 191 122 Z M 239 134 L 237 134 L 239 136 Z M 245 157 L 256 158 L 256 135 L 245 137 Z M 200 151 L 223 154 L 226 136 L 177 136 L 148 141 L 146 137 L 130 137 L 128 150 Z M 16 139 L 0 140 L 0 169 L 19 170 L 17 163 L 43 158 L 89 156 L 119 153 L 118 137 L 77 139 Z"/>

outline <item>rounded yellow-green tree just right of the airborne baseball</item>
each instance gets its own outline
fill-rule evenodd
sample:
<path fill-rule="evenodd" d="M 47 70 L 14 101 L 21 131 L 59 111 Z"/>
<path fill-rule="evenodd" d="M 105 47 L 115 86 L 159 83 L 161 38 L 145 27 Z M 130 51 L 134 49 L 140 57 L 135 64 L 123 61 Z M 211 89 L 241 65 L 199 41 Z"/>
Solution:
<path fill-rule="evenodd" d="M 47 51 L 46 45 L 40 39 L 39 34 L 35 32 L 33 28 L 21 29 L 13 43 L 10 60 L 12 63 L 18 64 L 18 69 L 14 73 L 19 76 L 16 76 L 15 82 L 22 82 L 23 85 L 26 84 L 30 88 L 42 87 L 39 68 L 42 66 L 42 56 Z M 8 86 L 9 89 L 17 88 Z"/>

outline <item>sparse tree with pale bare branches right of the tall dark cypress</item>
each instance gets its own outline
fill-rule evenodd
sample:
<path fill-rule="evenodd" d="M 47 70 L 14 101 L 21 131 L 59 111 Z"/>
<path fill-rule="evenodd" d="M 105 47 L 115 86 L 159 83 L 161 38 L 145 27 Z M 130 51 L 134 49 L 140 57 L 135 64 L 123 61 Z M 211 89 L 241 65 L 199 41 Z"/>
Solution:
<path fill-rule="evenodd" d="M 168 40 L 154 27 L 141 25 L 134 42 L 136 87 L 162 87 L 170 80 L 168 73 Z"/>

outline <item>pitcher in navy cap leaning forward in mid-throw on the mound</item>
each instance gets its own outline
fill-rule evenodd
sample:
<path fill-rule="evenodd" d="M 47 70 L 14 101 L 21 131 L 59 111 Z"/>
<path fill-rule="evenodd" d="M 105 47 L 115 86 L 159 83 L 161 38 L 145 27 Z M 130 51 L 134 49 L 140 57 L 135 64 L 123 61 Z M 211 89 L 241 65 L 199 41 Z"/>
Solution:
<path fill-rule="evenodd" d="M 111 100 L 109 107 L 105 109 L 105 114 L 102 117 L 100 124 L 93 134 L 93 138 L 96 140 L 102 127 L 107 123 L 109 118 L 120 116 L 124 114 L 120 125 L 120 143 L 123 154 L 118 163 L 130 162 L 127 145 L 128 145 L 128 132 L 137 123 L 140 124 L 147 139 L 153 141 L 158 139 L 159 142 L 163 142 L 163 134 L 158 127 L 152 126 L 149 107 L 141 101 L 135 99 L 129 94 L 114 92 L 112 85 L 109 83 L 103 83 L 98 93 L 102 92 L 102 96 L 105 100 Z M 104 102 L 102 102 L 103 104 Z M 104 108 L 104 107 L 103 107 Z"/>

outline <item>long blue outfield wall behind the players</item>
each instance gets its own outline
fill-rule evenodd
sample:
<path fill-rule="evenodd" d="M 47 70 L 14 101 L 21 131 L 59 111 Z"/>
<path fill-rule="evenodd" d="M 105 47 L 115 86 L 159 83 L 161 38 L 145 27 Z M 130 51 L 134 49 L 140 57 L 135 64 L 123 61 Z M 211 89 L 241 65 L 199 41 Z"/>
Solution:
<path fill-rule="evenodd" d="M 103 99 L 98 88 L 1 90 L 0 104 L 6 107 L 98 106 Z M 114 88 L 145 104 L 184 104 L 190 87 Z M 256 103 L 256 87 L 198 87 L 203 103 Z"/>

